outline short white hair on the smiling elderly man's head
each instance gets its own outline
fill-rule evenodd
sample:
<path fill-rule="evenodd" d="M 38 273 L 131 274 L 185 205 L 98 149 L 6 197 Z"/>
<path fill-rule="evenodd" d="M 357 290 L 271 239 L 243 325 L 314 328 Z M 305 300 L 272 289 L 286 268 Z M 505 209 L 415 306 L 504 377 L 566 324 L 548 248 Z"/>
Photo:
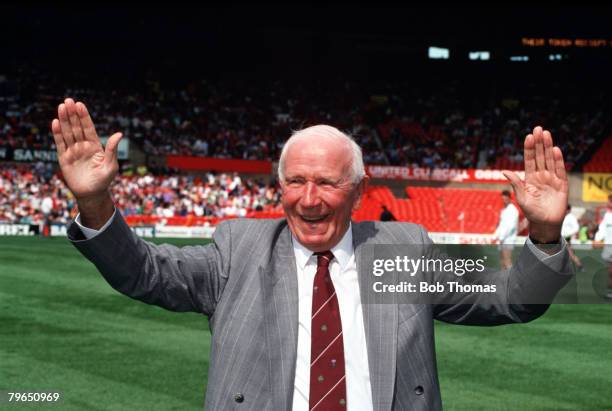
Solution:
<path fill-rule="evenodd" d="M 281 183 L 285 179 L 285 160 L 287 153 L 289 152 L 289 148 L 299 140 L 306 140 L 313 137 L 323 137 L 326 140 L 343 142 L 348 146 L 347 148 L 350 149 L 352 155 L 350 179 L 353 184 L 359 184 L 361 179 L 363 179 L 365 176 L 361 147 L 359 147 L 355 140 L 348 134 L 343 133 L 336 127 L 325 124 L 319 124 L 294 131 L 291 137 L 289 137 L 289 139 L 285 142 L 283 150 L 281 151 L 280 159 L 278 160 L 278 178 Z"/>

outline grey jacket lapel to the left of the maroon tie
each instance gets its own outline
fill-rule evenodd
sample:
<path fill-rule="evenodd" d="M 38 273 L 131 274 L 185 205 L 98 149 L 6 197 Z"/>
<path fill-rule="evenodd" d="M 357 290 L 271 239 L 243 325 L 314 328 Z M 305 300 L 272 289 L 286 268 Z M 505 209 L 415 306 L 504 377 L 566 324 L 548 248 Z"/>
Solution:
<path fill-rule="evenodd" d="M 272 409 L 291 409 L 298 327 L 298 283 L 291 234 L 279 232 L 269 264 L 260 267 Z"/>

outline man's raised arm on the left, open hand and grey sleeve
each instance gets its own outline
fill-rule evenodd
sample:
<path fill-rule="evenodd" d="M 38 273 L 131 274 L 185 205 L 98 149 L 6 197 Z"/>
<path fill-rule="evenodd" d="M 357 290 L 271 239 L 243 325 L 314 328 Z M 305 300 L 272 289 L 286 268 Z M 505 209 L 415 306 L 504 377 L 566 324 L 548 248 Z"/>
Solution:
<path fill-rule="evenodd" d="M 75 223 L 68 228 L 79 251 L 111 286 L 130 297 L 171 310 L 212 314 L 229 272 L 229 224 L 227 230 L 218 228 L 214 243 L 205 247 L 179 249 L 143 241 L 115 212 L 109 192 L 119 169 L 121 134 L 113 134 L 103 148 L 87 108 L 70 98 L 59 105 L 51 129 L 80 223 L 98 231 L 87 239 Z"/>

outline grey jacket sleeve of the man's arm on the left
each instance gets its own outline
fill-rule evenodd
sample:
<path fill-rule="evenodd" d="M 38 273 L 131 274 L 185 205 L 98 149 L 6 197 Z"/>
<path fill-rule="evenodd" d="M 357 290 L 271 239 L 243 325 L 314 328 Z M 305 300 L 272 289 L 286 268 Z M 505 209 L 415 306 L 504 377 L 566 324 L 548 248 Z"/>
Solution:
<path fill-rule="evenodd" d="M 96 237 L 86 240 L 73 222 L 68 238 L 122 294 L 168 310 L 210 316 L 230 270 L 230 225 L 220 224 L 211 244 L 179 248 L 142 240 L 115 213 Z"/>

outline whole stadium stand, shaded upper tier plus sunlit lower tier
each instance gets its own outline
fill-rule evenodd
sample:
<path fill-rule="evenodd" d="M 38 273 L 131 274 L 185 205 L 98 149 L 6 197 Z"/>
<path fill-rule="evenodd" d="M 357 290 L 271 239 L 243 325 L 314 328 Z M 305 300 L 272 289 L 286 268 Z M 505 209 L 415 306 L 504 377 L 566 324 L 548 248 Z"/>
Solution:
<path fill-rule="evenodd" d="M 87 74 L 75 74 L 66 82 L 31 66 L 7 72 L 0 76 L 0 150 L 54 150 L 48 122 L 58 101 L 70 95 L 88 104 L 101 136 L 122 131 L 147 157 L 274 161 L 293 130 L 330 123 L 355 137 L 370 165 L 520 170 L 527 127 L 543 124 L 563 150 L 568 170 L 612 170 L 612 137 L 603 142 L 612 134 L 609 104 L 579 85 L 552 82 L 536 95 L 513 93 L 510 86 L 474 92 L 443 79 L 435 86 L 397 79 L 253 83 L 197 77 L 168 84 L 152 73 L 142 79 L 92 82 Z M 564 94 L 576 101 L 559 98 Z M 215 225 L 225 218 L 283 215 L 274 181 L 150 170 L 155 173 L 118 176 L 112 187 L 130 224 Z M 64 224 L 76 213 L 49 163 L 0 163 L 0 195 L 0 223 Z M 354 218 L 378 220 L 385 205 L 398 220 L 432 232 L 493 233 L 502 206 L 498 191 L 484 189 L 408 187 L 405 195 L 371 186 Z M 52 211 L 43 212 L 49 201 Z"/>

